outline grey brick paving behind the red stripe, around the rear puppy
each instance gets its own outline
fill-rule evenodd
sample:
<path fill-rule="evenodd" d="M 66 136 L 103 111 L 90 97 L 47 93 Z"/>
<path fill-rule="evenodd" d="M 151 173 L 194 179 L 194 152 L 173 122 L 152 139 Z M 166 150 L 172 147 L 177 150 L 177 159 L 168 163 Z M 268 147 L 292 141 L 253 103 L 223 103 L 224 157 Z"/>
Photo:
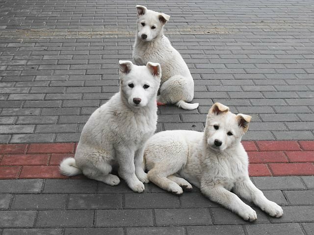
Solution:
<path fill-rule="evenodd" d="M 73 142 L 118 91 L 138 2 L 5 0 L 0 8 L 0 142 Z M 245 140 L 314 140 L 313 2 L 142 1 L 195 79 L 197 110 L 160 107 L 160 130 L 202 130 L 213 102 L 252 115 Z M 174 111 L 174 112 L 169 112 Z M 178 111 L 177 111 L 178 110 Z"/>

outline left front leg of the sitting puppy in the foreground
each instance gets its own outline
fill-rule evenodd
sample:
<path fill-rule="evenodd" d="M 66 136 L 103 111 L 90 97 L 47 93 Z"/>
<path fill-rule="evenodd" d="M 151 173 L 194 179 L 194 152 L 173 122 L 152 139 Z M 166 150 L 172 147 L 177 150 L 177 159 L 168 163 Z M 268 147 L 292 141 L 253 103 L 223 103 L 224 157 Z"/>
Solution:
<path fill-rule="evenodd" d="M 135 175 L 134 151 L 119 147 L 116 149 L 116 154 L 117 161 L 119 162 L 119 175 L 134 192 L 143 192 L 145 187 Z"/>

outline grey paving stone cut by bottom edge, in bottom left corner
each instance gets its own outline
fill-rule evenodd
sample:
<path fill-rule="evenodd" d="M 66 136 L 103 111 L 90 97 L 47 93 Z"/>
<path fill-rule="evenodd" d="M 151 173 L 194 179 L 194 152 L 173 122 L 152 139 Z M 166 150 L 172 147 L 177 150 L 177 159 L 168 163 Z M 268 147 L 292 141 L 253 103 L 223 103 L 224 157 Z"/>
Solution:
<path fill-rule="evenodd" d="M 2 235 L 62 235 L 62 229 L 4 229 Z"/>

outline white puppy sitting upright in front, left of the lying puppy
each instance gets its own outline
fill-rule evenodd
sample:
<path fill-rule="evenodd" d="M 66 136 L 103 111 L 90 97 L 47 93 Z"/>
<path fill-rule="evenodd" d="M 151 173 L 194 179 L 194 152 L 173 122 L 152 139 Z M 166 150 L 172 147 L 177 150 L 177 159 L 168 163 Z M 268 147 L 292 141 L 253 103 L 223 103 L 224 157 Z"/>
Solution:
<path fill-rule="evenodd" d="M 161 68 L 157 63 L 146 66 L 119 61 L 120 92 L 99 107 L 87 120 L 74 158 L 60 164 L 67 176 L 84 174 L 108 185 L 120 183 L 110 174 L 119 164 L 119 175 L 135 192 L 143 192 L 148 183 L 143 168 L 145 142 L 157 124 L 157 91 Z"/>

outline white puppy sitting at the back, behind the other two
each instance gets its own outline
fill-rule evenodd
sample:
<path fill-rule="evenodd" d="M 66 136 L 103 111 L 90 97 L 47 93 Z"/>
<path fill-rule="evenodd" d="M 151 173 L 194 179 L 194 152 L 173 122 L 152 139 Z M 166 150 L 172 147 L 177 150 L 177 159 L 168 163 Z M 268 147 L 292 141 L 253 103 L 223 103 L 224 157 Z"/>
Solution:
<path fill-rule="evenodd" d="M 136 65 L 145 65 L 148 61 L 157 62 L 162 69 L 160 103 L 175 104 L 183 109 L 192 110 L 198 103 L 190 104 L 194 97 L 194 81 L 180 53 L 171 46 L 163 35 L 163 26 L 170 16 L 137 7 L 137 34 L 133 46 L 133 59 Z"/>

